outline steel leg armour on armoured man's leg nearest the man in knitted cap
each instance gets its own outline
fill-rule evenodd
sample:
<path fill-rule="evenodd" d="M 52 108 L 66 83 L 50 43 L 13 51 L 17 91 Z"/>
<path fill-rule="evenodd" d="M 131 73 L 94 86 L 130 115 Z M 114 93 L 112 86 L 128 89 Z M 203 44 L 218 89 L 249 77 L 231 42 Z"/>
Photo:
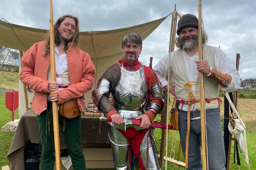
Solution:
<path fill-rule="evenodd" d="M 148 167 L 149 170 L 161 170 L 157 157 L 157 148 L 155 146 L 152 128 L 148 129 L 142 143 L 140 144 L 140 154 L 144 167 Z"/>

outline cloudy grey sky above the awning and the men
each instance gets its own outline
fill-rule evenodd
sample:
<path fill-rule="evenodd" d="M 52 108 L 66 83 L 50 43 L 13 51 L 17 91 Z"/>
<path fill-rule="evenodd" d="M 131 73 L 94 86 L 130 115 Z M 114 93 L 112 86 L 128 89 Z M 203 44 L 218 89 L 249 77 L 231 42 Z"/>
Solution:
<path fill-rule="evenodd" d="M 198 0 L 53 0 L 53 15 L 55 21 L 76 13 L 80 31 L 103 31 L 163 18 L 173 12 L 175 4 L 180 15 L 198 16 Z M 49 29 L 49 8 L 49 0 L 2 0 L 0 18 Z M 220 47 L 234 65 L 236 53 L 240 53 L 240 78 L 256 78 L 256 1 L 202 0 L 202 15 L 208 44 Z M 170 27 L 171 15 L 143 41 L 140 62 L 149 65 L 153 57 L 155 66 L 168 53 Z"/>

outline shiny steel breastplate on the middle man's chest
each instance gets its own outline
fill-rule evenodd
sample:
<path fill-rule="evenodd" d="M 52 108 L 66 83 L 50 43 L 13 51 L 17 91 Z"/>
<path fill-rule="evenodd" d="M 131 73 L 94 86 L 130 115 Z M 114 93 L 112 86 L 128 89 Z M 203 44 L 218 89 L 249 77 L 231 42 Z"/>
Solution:
<path fill-rule="evenodd" d="M 113 105 L 118 110 L 144 110 L 148 100 L 148 85 L 143 66 L 130 71 L 121 65 L 121 78 L 112 96 Z"/>

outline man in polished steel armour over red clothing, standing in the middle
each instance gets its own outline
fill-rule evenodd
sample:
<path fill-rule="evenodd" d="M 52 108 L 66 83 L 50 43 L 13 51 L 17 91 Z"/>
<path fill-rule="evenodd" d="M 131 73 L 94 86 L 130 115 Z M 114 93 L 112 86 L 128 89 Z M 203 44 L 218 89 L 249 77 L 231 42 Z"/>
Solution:
<path fill-rule="evenodd" d="M 129 152 L 137 157 L 141 170 L 160 170 L 150 124 L 163 108 L 163 93 L 157 75 L 138 58 L 142 39 L 128 33 L 122 40 L 124 57 L 110 66 L 92 92 L 93 100 L 109 123 L 109 140 L 116 170 L 129 170 Z M 109 102 L 112 94 L 113 105 Z M 140 126 L 132 119 L 141 120 Z"/>

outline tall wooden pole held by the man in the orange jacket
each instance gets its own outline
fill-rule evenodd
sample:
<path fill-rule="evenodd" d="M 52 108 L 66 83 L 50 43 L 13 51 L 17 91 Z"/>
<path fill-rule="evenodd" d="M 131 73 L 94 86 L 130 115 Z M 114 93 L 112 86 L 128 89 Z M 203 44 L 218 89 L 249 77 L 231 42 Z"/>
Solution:
<path fill-rule="evenodd" d="M 56 81 L 52 0 L 50 0 L 49 21 L 50 21 L 49 31 L 50 31 L 50 53 L 51 53 L 51 79 L 52 81 Z M 52 102 L 52 114 L 53 114 L 53 129 L 54 129 L 55 165 L 56 165 L 56 170 L 60 170 L 60 139 L 59 139 L 59 118 L 58 118 L 57 102 Z"/>

